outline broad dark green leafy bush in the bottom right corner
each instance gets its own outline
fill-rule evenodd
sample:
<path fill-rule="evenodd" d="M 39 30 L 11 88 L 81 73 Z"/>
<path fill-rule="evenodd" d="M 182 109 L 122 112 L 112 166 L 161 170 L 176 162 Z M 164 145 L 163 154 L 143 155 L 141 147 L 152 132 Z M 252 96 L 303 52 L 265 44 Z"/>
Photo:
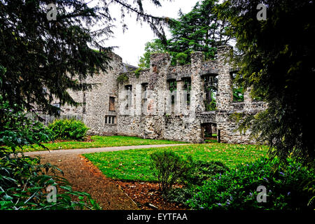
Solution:
<path fill-rule="evenodd" d="M 314 170 L 292 160 L 283 165 L 277 159 L 260 159 L 216 174 L 196 188 L 197 193 L 188 204 L 193 209 L 314 209 L 314 203 L 309 202 L 311 193 L 303 189 L 314 177 Z M 267 202 L 257 201 L 258 186 L 267 188 Z M 311 188 L 314 187 L 313 183 Z"/>

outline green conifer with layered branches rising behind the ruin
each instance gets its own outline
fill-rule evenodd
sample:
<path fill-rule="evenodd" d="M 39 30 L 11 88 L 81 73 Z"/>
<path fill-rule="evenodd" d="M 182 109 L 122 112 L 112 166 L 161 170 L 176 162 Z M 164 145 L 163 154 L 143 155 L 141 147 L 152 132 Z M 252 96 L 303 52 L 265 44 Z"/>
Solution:
<path fill-rule="evenodd" d="M 172 38 L 168 48 L 173 52 L 202 51 L 206 58 L 213 58 L 216 47 L 228 43 L 228 20 L 218 19 L 217 0 L 199 1 L 190 13 L 179 11 L 179 20 L 172 20 Z"/>

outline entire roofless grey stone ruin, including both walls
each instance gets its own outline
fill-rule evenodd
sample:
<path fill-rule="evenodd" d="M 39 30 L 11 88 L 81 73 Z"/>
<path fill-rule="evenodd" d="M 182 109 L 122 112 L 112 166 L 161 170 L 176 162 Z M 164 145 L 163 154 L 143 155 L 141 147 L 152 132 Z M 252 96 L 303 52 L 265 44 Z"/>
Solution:
<path fill-rule="evenodd" d="M 204 61 L 193 52 L 191 64 L 170 66 L 167 53 L 151 55 L 150 69 L 134 71 L 112 53 L 111 71 L 87 78 L 99 83 L 90 92 L 71 92 L 77 108 L 62 106 L 61 116 L 80 118 L 89 134 L 127 135 L 203 143 L 216 134 L 218 142 L 252 144 L 249 131 L 239 133 L 232 113 L 257 113 L 264 102 L 244 92 L 244 102 L 234 102 L 232 69 L 226 62 L 232 46 L 218 48 L 216 59 Z M 211 94 L 209 90 L 216 93 Z M 216 100 L 216 108 L 210 108 Z M 58 104 L 58 102 L 55 102 Z"/>

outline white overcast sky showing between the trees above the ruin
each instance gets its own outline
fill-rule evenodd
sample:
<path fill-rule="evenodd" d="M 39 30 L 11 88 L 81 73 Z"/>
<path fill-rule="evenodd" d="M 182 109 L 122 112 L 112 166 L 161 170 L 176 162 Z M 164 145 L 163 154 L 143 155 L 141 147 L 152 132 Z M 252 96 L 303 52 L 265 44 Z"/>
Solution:
<path fill-rule="evenodd" d="M 178 18 L 179 9 L 183 13 L 188 13 L 195 6 L 198 0 L 174 0 L 161 1 L 162 7 L 156 7 L 148 0 L 144 0 L 144 10 L 151 15 L 165 16 L 169 18 Z M 113 29 L 113 38 L 106 41 L 107 46 L 118 46 L 114 52 L 123 58 L 123 62 L 134 66 L 138 65 L 139 59 L 144 55 L 144 47 L 146 42 L 157 38 L 151 28 L 143 23 L 141 26 L 137 23 L 135 17 L 127 15 L 125 23 L 128 29 L 123 33 L 123 28 L 120 24 L 120 10 L 119 7 L 113 8 L 111 14 L 117 18 L 116 28 Z M 117 14 L 117 15 L 116 15 Z M 167 28 L 165 31 L 168 33 Z"/>

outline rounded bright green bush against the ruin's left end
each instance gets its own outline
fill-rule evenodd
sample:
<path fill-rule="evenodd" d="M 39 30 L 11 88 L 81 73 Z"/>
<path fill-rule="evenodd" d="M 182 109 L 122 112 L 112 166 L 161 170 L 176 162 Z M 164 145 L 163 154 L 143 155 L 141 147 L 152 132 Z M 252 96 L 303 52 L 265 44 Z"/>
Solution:
<path fill-rule="evenodd" d="M 55 139 L 74 139 L 83 140 L 86 136 L 88 127 L 81 120 L 63 119 L 55 120 L 48 125 L 54 134 Z"/>

